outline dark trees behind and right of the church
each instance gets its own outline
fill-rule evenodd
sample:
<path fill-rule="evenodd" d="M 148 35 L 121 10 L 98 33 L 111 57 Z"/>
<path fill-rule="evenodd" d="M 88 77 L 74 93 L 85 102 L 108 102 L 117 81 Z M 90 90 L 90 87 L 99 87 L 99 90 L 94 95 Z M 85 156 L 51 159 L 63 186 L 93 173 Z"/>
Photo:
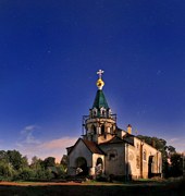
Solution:
<path fill-rule="evenodd" d="M 183 175 L 183 167 L 185 167 L 184 155 L 176 152 L 173 146 L 168 146 L 166 142 L 158 137 L 149 137 L 138 135 L 138 138 L 147 144 L 155 146 L 162 154 L 162 174 L 163 177 L 177 177 Z"/>

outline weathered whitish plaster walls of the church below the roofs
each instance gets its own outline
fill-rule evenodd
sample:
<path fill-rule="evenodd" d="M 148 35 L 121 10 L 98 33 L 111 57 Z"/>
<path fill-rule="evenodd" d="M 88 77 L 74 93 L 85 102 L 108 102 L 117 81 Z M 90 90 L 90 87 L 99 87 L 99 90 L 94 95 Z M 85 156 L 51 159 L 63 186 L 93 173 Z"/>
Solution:
<path fill-rule="evenodd" d="M 152 146 L 134 137 L 134 146 L 127 143 L 100 145 L 104 155 L 92 154 L 83 140 L 79 140 L 69 155 L 69 174 L 75 174 L 76 159 L 83 157 L 87 161 L 89 174 L 95 175 L 97 159 L 102 159 L 102 169 L 106 175 L 132 175 L 133 179 L 148 177 L 149 156 L 153 156 L 152 173 L 161 173 L 161 152 Z M 144 150 L 146 160 L 144 160 Z"/>

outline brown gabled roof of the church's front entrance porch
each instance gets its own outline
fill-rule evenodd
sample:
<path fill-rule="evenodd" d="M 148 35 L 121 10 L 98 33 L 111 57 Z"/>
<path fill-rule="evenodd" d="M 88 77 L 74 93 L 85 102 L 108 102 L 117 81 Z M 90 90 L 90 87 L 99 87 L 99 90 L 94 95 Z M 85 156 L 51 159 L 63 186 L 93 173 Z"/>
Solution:
<path fill-rule="evenodd" d="M 75 148 L 75 146 L 76 146 L 81 140 L 86 145 L 86 147 L 90 150 L 91 154 L 104 155 L 104 152 L 97 146 L 96 143 L 90 142 L 90 140 L 87 140 L 87 139 L 83 139 L 83 138 L 78 138 L 74 146 L 71 146 L 71 147 L 66 148 L 69 155 L 73 151 L 73 149 Z"/>

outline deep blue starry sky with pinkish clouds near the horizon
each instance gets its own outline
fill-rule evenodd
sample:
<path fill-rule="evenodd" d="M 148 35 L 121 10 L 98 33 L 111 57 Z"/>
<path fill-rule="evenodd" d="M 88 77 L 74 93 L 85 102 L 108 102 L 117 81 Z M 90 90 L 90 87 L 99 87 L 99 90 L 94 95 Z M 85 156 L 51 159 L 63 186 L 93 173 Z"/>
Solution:
<path fill-rule="evenodd" d="M 118 125 L 185 149 L 183 0 L 1 0 L 0 149 L 65 154 L 96 72 Z"/>

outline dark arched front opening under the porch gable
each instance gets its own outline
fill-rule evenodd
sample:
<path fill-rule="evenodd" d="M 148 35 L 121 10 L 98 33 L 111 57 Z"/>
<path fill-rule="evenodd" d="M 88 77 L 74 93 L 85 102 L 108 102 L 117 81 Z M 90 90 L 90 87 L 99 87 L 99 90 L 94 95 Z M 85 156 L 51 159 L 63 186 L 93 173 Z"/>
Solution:
<path fill-rule="evenodd" d="M 76 159 L 76 175 L 77 176 L 88 175 L 87 161 L 84 157 L 78 157 Z"/>

